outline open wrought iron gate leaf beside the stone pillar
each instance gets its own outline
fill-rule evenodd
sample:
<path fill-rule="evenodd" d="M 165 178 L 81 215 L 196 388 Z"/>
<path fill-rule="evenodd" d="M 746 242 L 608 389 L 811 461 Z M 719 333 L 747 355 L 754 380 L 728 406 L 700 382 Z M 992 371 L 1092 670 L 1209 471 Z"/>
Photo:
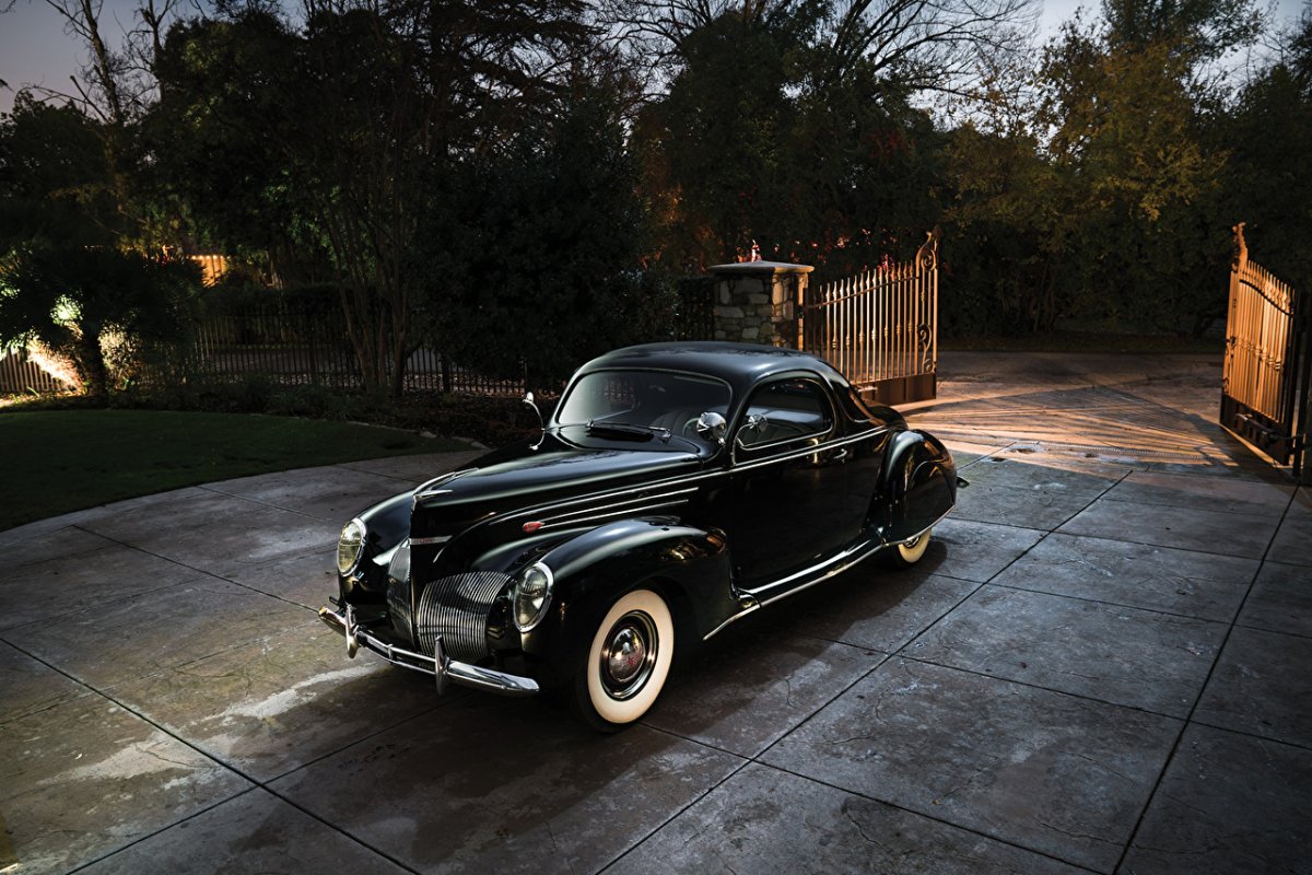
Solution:
<path fill-rule="evenodd" d="M 878 404 L 938 394 L 938 230 L 912 261 L 808 287 L 802 349 L 827 359 Z"/>

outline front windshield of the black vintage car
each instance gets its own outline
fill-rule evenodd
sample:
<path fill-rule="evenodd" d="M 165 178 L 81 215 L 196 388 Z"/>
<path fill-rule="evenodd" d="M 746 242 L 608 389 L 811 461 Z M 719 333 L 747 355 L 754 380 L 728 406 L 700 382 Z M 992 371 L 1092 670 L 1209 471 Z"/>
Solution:
<path fill-rule="evenodd" d="M 707 411 L 728 416 L 729 387 L 710 376 L 669 371 L 593 371 L 571 387 L 556 408 L 556 424 L 594 432 L 634 432 L 701 441 L 697 418 Z"/>

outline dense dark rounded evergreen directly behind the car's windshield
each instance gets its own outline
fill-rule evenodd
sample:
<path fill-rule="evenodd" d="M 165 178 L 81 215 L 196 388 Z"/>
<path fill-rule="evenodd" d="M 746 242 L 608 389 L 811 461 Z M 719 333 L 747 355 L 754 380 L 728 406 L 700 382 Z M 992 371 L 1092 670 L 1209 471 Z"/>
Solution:
<path fill-rule="evenodd" d="M 652 311 L 666 302 L 640 270 L 647 215 L 611 89 L 577 83 L 449 173 L 417 256 L 459 361 L 552 386 L 583 359 L 655 338 Z"/>

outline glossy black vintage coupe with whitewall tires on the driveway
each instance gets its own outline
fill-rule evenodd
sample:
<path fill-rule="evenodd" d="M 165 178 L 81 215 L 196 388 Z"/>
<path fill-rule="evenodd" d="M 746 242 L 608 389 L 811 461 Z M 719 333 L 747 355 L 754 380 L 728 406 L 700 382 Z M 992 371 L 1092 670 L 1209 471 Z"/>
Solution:
<path fill-rule="evenodd" d="M 955 500 L 943 445 L 823 361 L 632 346 L 583 366 L 535 439 L 348 522 L 319 615 L 438 691 L 558 689 L 614 729 L 676 647 L 870 556 L 917 561 Z"/>

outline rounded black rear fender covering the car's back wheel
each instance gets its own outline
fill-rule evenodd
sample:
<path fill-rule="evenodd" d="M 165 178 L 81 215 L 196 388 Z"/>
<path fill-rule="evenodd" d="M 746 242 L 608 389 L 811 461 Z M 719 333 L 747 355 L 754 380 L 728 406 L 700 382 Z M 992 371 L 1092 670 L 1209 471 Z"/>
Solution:
<path fill-rule="evenodd" d="M 956 463 L 925 432 L 901 432 L 890 442 L 871 517 L 886 543 L 925 531 L 956 506 Z"/>

